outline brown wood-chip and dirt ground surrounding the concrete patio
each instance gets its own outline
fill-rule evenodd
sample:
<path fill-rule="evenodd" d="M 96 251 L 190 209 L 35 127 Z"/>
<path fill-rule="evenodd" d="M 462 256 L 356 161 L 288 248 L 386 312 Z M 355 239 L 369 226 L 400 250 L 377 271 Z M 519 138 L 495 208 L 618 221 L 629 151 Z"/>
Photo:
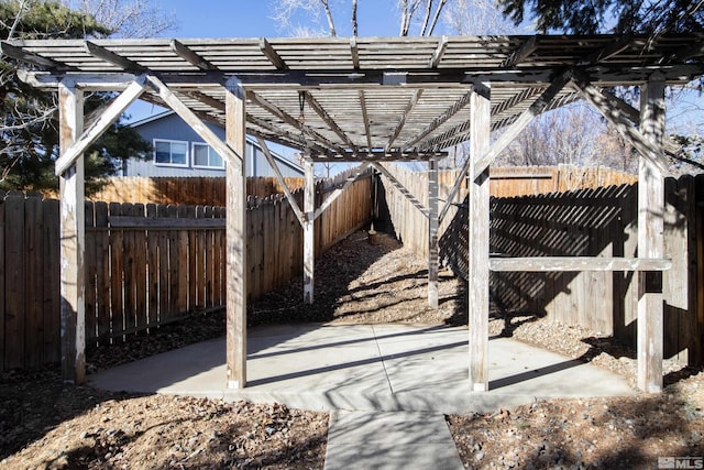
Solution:
<path fill-rule="evenodd" d="M 290 321 L 466 325 L 465 283 L 441 273 L 427 307 L 427 266 L 389 237 L 358 232 L 316 264 L 316 304 L 300 281 L 249 307 L 251 325 Z M 222 313 L 124 345 L 89 350 L 89 371 L 221 336 Z M 581 328 L 495 313 L 491 334 L 588 360 L 635 380 L 630 348 Z M 666 361 L 666 392 L 554 400 L 448 416 L 466 468 L 658 468 L 704 456 L 704 372 Z M 0 468 L 322 468 L 328 416 L 280 405 L 136 396 L 64 386 L 56 370 L 0 376 Z M 692 461 L 696 464 L 696 461 Z M 694 468 L 694 467 L 691 467 Z"/>

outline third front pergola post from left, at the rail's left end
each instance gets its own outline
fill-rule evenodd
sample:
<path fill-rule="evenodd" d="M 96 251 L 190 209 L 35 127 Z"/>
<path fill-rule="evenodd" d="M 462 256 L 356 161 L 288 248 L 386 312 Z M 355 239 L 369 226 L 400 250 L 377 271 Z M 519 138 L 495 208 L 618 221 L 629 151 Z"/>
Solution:
<path fill-rule="evenodd" d="M 477 83 L 470 98 L 470 155 L 481 159 L 490 150 L 492 121 L 491 85 Z M 469 325 L 470 386 L 488 390 L 488 168 L 475 174 L 470 167 L 469 214 Z"/>

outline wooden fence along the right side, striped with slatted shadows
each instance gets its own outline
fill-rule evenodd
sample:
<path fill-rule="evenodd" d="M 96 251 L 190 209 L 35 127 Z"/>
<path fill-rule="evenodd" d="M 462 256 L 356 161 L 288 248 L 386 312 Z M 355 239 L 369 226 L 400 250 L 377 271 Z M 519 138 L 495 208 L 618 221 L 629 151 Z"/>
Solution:
<path fill-rule="evenodd" d="M 421 200 L 427 179 L 392 170 Z M 609 182 L 609 179 L 602 179 Z M 613 179 L 610 179 L 613 181 Z M 382 178 L 387 225 L 419 255 L 427 255 L 427 221 Z M 566 193 L 492 199 L 491 252 L 506 256 L 636 256 L 637 186 L 591 187 Z M 704 362 L 704 175 L 666 182 L 663 274 L 666 354 L 682 363 Z M 448 193 L 441 186 L 440 197 Z M 468 200 L 461 196 L 441 226 L 440 258 L 465 275 Z M 492 297 L 510 316 L 530 313 L 635 341 L 637 302 L 632 272 L 492 272 Z M 634 342 L 635 345 L 635 342 Z"/>

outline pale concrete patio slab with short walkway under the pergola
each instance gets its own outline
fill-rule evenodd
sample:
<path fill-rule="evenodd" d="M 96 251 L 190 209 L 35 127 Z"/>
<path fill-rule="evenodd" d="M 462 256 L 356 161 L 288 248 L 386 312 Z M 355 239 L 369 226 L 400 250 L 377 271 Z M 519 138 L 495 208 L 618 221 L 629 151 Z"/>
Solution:
<path fill-rule="evenodd" d="M 248 387 L 224 387 L 224 339 L 89 376 L 99 389 L 328 411 L 326 469 L 462 468 L 444 414 L 536 398 L 635 393 L 616 374 L 509 338 L 490 341 L 490 391 L 470 392 L 466 328 L 284 325 L 248 334 Z"/>

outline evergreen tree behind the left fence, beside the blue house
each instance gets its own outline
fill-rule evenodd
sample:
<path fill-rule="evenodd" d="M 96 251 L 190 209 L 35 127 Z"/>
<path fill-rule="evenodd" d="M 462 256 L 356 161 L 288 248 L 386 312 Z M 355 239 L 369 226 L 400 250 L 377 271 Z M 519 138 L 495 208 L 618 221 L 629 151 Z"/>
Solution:
<path fill-rule="evenodd" d="M 0 1 L 3 40 L 105 37 L 110 31 L 94 17 L 57 1 Z M 56 189 L 54 162 L 58 156 L 56 96 L 36 90 L 16 77 L 13 61 L 0 61 L 0 188 Z M 85 112 L 97 109 L 112 94 L 86 96 Z M 86 152 L 86 192 L 99 188 L 100 178 L 113 175 L 123 160 L 151 150 L 136 132 L 120 121 Z"/>

